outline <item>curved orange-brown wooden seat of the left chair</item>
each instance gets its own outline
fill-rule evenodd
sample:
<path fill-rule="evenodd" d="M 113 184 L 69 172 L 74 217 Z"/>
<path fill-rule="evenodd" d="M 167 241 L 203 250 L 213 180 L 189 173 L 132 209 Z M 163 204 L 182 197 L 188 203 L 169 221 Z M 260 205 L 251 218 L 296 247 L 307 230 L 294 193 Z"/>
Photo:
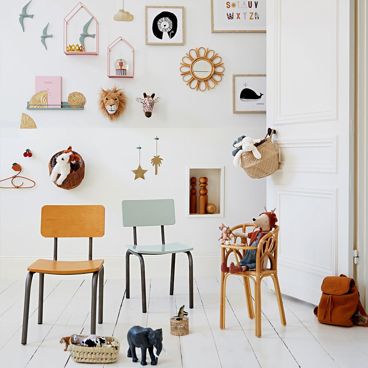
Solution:
<path fill-rule="evenodd" d="M 103 259 L 92 261 L 52 261 L 51 259 L 38 259 L 28 267 L 28 271 L 50 273 L 52 275 L 80 275 L 99 271 Z"/>

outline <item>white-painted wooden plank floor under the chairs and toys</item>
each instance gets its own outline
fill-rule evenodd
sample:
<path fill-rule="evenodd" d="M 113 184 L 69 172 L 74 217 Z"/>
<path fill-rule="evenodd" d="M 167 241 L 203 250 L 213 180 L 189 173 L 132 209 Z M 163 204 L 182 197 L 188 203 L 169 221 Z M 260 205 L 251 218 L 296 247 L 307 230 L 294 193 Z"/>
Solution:
<path fill-rule="evenodd" d="M 238 277 L 227 282 L 226 329 L 219 329 L 219 280 L 196 278 L 194 309 L 188 305 L 188 279 L 176 279 L 169 295 L 169 279 L 148 279 L 148 312 L 141 311 L 140 282 L 131 280 L 131 298 L 125 299 L 124 280 L 107 280 L 102 325 L 98 335 L 121 342 L 114 366 L 140 367 L 127 358 L 126 335 L 133 325 L 163 329 L 158 367 L 368 367 L 368 329 L 322 325 L 314 306 L 283 296 L 287 326 L 280 324 L 275 294 L 262 285 L 262 337 L 254 336 L 248 319 L 244 289 Z M 1 367 L 73 367 L 62 336 L 89 333 L 90 280 L 54 280 L 45 275 L 43 324 L 37 324 L 38 277 L 33 277 L 29 309 L 28 344 L 21 345 L 24 280 L 0 282 Z M 282 288 L 282 285 L 281 285 Z M 190 334 L 170 335 L 169 316 L 185 304 Z M 138 358 L 140 351 L 137 349 Z M 148 358 L 148 364 L 149 364 Z"/>

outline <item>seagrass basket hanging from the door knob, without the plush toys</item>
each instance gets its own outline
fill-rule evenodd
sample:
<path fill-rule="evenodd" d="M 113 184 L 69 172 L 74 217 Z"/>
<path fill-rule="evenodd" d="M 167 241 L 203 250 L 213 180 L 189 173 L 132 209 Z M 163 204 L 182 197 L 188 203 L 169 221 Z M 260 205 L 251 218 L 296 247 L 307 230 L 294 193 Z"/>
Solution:
<path fill-rule="evenodd" d="M 240 167 L 252 179 L 260 179 L 273 174 L 279 168 L 279 151 L 272 143 L 272 135 L 276 132 L 271 130 L 270 136 L 266 135 L 261 142 L 255 143 L 261 158 L 256 159 L 253 153 L 243 152 L 240 158 Z"/>

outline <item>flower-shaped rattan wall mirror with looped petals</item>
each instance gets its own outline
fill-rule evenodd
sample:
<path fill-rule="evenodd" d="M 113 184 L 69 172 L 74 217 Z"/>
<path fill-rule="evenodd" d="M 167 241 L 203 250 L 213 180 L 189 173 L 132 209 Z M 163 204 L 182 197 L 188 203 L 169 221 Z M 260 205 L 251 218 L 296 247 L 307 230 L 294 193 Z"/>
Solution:
<path fill-rule="evenodd" d="M 222 81 L 222 58 L 215 51 L 199 47 L 189 50 L 180 63 L 183 81 L 196 91 L 209 91 Z"/>

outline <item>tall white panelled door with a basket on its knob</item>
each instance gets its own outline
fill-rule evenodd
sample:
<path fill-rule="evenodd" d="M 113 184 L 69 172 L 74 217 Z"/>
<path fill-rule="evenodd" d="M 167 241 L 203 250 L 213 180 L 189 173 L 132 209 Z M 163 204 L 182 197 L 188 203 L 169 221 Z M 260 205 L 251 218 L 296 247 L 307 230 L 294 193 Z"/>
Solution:
<path fill-rule="evenodd" d="M 267 1 L 267 126 L 280 168 L 281 291 L 318 303 L 325 276 L 353 272 L 354 1 Z"/>

